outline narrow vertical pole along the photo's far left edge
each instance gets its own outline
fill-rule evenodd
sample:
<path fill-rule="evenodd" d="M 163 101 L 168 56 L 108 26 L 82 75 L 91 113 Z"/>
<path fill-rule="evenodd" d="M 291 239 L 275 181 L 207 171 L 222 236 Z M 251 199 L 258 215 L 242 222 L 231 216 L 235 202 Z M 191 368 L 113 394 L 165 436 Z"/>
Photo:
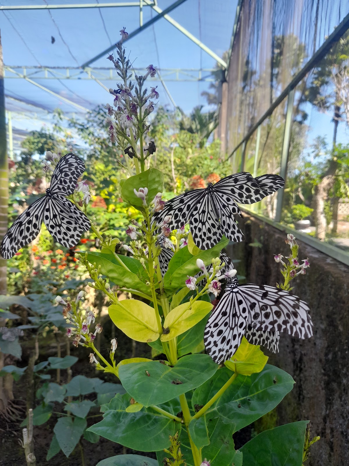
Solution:
<path fill-rule="evenodd" d="M 4 61 L 0 32 L 0 240 L 7 232 L 8 163 L 6 146 L 6 114 L 4 89 Z M 0 295 L 7 293 L 7 261 L 0 257 Z"/>

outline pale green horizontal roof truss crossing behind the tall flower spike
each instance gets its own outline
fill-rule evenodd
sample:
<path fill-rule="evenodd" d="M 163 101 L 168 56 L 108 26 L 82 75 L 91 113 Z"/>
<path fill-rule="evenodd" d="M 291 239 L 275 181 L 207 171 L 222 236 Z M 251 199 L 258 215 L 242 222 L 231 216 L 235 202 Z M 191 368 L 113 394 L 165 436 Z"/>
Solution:
<path fill-rule="evenodd" d="M 101 81 L 115 81 L 119 79 L 116 69 L 112 68 L 86 68 L 80 67 L 46 67 L 46 66 L 7 66 L 5 65 L 5 77 L 8 79 L 20 79 L 20 76 L 13 74 L 20 73 L 27 78 L 35 79 L 98 79 Z M 84 73 L 85 71 L 85 73 Z M 134 68 L 138 75 L 145 75 L 145 68 Z M 161 75 L 166 81 L 183 81 L 183 82 L 214 82 L 212 77 L 214 69 L 180 69 L 180 68 L 161 68 Z M 9 74 L 10 73 L 10 74 Z M 149 77 L 151 81 L 161 81 L 160 75 L 155 75 L 154 78 Z"/>

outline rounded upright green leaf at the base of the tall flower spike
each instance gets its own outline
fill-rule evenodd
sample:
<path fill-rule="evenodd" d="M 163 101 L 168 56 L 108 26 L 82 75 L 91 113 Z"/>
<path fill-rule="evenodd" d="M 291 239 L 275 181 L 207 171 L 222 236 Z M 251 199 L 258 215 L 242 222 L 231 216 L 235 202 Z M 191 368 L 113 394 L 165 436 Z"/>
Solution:
<path fill-rule="evenodd" d="M 156 168 L 150 168 L 147 171 L 143 171 L 138 175 L 134 175 L 125 180 L 121 186 L 121 197 L 123 200 L 128 201 L 131 206 L 141 207 L 143 209 L 143 203 L 140 198 L 134 194 L 139 188 L 148 188 L 148 203 L 151 202 L 158 192 L 162 192 L 164 189 L 164 176 L 160 170 Z"/>

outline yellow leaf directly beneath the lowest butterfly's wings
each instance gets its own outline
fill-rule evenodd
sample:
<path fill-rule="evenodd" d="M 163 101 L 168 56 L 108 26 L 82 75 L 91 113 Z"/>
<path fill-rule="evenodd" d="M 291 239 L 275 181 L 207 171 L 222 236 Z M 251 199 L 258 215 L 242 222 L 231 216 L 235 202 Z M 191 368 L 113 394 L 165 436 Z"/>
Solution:
<path fill-rule="evenodd" d="M 268 361 L 268 356 L 265 356 L 258 345 L 252 345 L 248 343 L 246 338 L 243 336 L 239 348 L 236 350 L 234 356 L 224 364 L 228 369 L 242 374 L 244 376 L 250 376 L 255 372 L 261 372 L 263 367 Z"/>

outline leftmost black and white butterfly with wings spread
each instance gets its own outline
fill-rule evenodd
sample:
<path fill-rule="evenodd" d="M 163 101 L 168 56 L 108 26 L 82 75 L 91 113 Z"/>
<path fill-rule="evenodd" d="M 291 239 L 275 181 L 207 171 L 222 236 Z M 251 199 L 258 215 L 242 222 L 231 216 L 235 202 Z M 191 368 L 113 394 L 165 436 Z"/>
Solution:
<path fill-rule="evenodd" d="M 60 159 L 46 195 L 22 212 L 4 236 L 0 247 L 4 259 L 10 259 L 21 247 L 33 241 L 40 232 L 42 222 L 58 243 L 65 247 L 76 246 L 81 234 L 89 230 L 91 224 L 66 196 L 74 192 L 84 170 L 85 164 L 72 153 Z"/>

